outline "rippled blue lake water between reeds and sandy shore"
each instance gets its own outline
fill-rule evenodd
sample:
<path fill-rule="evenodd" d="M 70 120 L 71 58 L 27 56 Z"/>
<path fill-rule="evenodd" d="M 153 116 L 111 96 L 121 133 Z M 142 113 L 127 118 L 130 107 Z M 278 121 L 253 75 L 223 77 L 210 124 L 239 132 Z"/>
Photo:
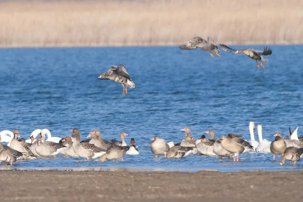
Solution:
<path fill-rule="evenodd" d="M 241 48 L 243 46 L 235 46 Z M 252 46 L 263 49 L 262 46 Z M 206 130 L 216 136 L 242 134 L 250 139 L 249 121 L 262 124 L 263 137 L 273 140 L 303 118 L 302 45 L 271 46 L 273 55 L 257 69 L 245 55 L 223 52 L 214 59 L 200 51 L 178 47 L 4 48 L 0 49 L 0 130 L 19 129 L 21 137 L 48 128 L 53 136 L 71 135 L 79 128 L 85 139 L 99 129 L 104 139 L 121 131 L 136 140 L 141 154 L 124 162 L 104 163 L 64 158 L 20 161 L 18 168 L 144 167 L 170 170 L 220 171 L 298 170 L 280 166 L 271 154 L 241 154 L 239 163 L 191 155 L 155 159 L 150 138 L 159 135 L 180 142 L 185 126 L 194 138 Z M 97 77 L 123 63 L 135 82 L 123 97 L 120 84 Z M 255 137 L 258 140 L 257 132 Z M 281 157 L 278 156 L 279 160 Z"/>

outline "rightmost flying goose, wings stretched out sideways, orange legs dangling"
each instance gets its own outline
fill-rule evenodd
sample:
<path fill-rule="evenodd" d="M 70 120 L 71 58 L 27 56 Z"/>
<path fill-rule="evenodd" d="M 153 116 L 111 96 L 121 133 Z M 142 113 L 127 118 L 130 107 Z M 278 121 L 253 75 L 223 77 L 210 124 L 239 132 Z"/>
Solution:
<path fill-rule="evenodd" d="M 262 62 L 268 62 L 268 59 L 264 58 L 263 56 L 271 55 L 273 53 L 272 50 L 268 47 L 264 47 L 263 51 L 257 51 L 257 50 L 252 49 L 252 48 L 235 50 L 235 49 L 232 49 L 232 48 L 230 48 L 230 47 L 228 47 L 227 45 L 224 45 L 224 44 L 220 44 L 220 46 L 223 49 L 223 51 L 231 52 L 231 53 L 234 53 L 234 54 L 243 53 L 246 56 L 248 56 L 249 58 L 254 59 L 256 61 L 258 69 L 260 68 L 260 65 L 258 64 L 257 61 L 259 60 L 260 63 L 261 63 L 262 68 L 265 69 Z"/>

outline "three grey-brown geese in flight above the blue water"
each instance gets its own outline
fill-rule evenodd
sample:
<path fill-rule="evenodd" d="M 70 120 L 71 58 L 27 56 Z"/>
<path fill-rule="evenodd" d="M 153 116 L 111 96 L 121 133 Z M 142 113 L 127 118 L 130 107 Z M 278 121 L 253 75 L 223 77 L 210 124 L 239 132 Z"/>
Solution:
<path fill-rule="evenodd" d="M 252 49 L 252 48 L 235 50 L 233 48 L 228 47 L 225 44 L 219 44 L 219 46 L 223 49 L 223 51 L 226 51 L 226 52 L 230 52 L 230 53 L 234 53 L 234 54 L 241 54 L 241 53 L 245 54 L 249 58 L 256 61 L 256 65 L 257 65 L 258 69 L 260 68 L 258 61 L 260 61 L 262 68 L 265 69 L 262 62 L 268 62 L 268 59 L 264 58 L 263 56 L 268 56 L 268 55 L 272 54 L 271 48 L 268 48 L 268 47 L 264 47 L 263 51 L 258 51 L 258 50 Z M 185 50 L 185 51 L 192 50 L 197 47 L 199 47 L 202 52 L 210 52 L 210 55 L 212 58 L 215 57 L 212 54 L 212 52 L 215 52 L 218 57 L 221 57 L 219 47 L 211 37 L 208 37 L 207 40 L 205 40 L 202 37 L 196 36 L 179 46 L 180 49 Z M 123 86 L 123 96 L 125 96 L 127 94 L 128 87 L 130 87 L 130 88 L 135 87 L 135 83 L 131 80 L 131 78 L 123 64 L 120 64 L 118 67 L 116 65 L 114 65 L 107 72 L 101 74 L 98 77 L 98 79 L 113 80 L 117 83 L 120 83 Z M 124 86 L 124 85 L 126 85 L 126 86 Z"/>

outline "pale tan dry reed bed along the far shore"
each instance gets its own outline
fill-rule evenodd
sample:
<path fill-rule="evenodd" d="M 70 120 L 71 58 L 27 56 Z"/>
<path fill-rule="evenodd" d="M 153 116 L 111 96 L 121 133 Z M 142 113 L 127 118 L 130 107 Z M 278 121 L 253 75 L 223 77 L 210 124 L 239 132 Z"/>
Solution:
<path fill-rule="evenodd" d="M 301 44 L 301 0 L 4 1 L 0 46 Z"/>

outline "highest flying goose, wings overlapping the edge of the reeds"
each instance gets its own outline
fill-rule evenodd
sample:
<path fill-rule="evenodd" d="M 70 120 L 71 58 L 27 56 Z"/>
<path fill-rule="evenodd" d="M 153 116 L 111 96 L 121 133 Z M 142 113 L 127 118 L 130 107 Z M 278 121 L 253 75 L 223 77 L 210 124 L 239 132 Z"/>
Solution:
<path fill-rule="evenodd" d="M 215 41 L 211 37 L 207 37 L 207 41 L 200 37 L 196 36 L 190 39 L 189 41 L 183 43 L 182 45 L 179 45 L 179 48 L 181 50 L 187 51 L 187 50 L 192 50 L 195 48 L 201 48 L 201 51 L 203 52 L 210 52 L 211 57 L 214 58 L 215 56 L 212 54 L 212 51 L 216 53 L 217 56 L 221 57 L 218 45 L 215 43 Z"/>

